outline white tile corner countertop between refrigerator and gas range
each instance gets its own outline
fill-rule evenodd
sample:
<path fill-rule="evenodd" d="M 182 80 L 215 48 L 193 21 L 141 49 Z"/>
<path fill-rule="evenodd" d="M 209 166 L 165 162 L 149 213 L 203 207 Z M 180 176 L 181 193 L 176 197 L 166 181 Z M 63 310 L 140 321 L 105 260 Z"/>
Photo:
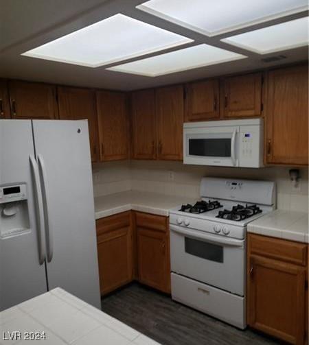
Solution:
<path fill-rule="evenodd" d="M 95 198 L 95 219 L 130 210 L 168 216 L 170 209 L 188 202 L 194 200 L 185 196 L 124 191 Z"/>

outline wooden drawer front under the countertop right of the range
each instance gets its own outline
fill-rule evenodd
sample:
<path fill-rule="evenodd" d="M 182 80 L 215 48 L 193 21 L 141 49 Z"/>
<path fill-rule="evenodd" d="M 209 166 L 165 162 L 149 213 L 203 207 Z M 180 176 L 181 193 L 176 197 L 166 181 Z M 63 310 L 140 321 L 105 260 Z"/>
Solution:
<path fill-rule="evenodd" d="M 306 266 L 307 247 L 305 243 L 248 234 L 248 250 L 251 254 L 295 263 L 296 265 Z"/>

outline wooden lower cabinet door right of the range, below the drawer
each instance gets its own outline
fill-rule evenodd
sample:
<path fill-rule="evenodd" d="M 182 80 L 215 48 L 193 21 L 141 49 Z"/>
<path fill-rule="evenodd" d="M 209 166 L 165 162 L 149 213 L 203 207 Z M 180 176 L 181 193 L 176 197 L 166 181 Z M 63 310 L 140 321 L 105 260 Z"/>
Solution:
<path fill-rule="evenodd" d="M 304 344 L 306 269 L 251 255 L 248 262 L 249 326 L 291 344 Z"/>

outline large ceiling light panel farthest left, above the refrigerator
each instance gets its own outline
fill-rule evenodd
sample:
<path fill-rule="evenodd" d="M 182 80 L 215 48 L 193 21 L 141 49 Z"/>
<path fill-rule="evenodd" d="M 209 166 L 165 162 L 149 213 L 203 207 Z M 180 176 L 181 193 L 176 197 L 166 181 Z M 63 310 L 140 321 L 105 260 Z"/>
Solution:
<path fill-rule="evenodd" d="M 190 42 L 190 38 L 115 14 L 21 55 L 99 67 Z"/>

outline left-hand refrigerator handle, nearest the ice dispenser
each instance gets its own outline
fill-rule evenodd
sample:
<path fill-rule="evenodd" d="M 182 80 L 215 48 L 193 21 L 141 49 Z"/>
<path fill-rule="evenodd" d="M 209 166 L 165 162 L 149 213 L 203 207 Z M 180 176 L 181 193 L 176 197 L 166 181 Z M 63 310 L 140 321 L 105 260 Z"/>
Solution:
<path fill-rule="evenodd" d="M 38 165 L 33 155 L 29 156 L 30 165 L 32 167 L 32 174 L 34 177 L 34 195 L 36 199 L 36 219 L 38 222 L 38 257 L 40 265 L 43 265 L 45 261 L 45 235 L 44 228 L 44 216 L 43 216 L 43 200 L 41 197 L 41 185 L 40 175 L 38 173 Z"/>

